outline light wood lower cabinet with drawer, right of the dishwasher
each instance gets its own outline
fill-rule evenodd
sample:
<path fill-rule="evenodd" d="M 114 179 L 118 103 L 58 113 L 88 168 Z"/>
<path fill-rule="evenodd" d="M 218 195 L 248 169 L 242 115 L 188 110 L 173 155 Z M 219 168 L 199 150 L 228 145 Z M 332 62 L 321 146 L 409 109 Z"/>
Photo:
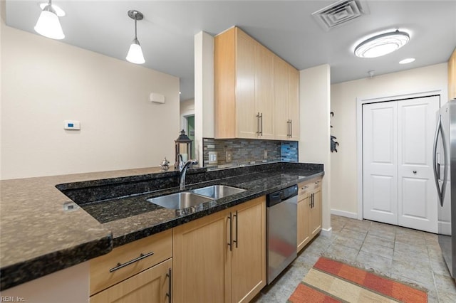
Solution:
<path fill-rule="evenodd" d="M 318 177 L 298 184 L 298 251 L 321 230 L 321 181 Z"/>

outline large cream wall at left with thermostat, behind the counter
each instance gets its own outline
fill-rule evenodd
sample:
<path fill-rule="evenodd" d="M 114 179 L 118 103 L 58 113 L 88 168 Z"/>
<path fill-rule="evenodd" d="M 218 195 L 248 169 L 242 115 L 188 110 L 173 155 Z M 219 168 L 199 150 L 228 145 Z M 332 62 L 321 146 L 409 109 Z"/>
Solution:
<path fill-rule="evenodd" d="M 3 23 L 1 81 L 1 179 L 174 158 L 179 78 Z M 150 102 L 150 92 L 165 104 Z M 81 121 L 81 131 L 64 130 L 66 119 Z"/>

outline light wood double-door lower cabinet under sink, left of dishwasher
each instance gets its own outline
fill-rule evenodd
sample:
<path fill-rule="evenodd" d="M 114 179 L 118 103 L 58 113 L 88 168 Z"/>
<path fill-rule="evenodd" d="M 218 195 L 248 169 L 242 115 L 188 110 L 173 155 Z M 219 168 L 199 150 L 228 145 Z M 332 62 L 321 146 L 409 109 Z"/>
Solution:
<path fill-rule="evenodd" d="M 249 302 L 266 285 L 266 199 L 172 230 L 174 302 Z"/>

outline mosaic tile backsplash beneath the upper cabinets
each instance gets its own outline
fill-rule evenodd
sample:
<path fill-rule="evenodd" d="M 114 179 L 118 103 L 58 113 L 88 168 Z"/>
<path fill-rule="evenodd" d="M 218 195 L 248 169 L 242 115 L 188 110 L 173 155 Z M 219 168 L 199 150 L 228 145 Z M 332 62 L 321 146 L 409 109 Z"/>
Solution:
<path fill-rule="evenodd" d="M 226 167 L 298 161 L 298 142 L 203 138 L 203 166 Z"/>

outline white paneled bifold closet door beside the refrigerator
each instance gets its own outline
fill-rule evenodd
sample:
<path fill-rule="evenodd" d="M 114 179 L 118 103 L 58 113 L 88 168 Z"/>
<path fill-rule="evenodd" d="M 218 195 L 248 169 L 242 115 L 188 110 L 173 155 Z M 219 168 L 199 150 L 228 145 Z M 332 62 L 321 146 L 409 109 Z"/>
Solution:
<path fill-rule="evenodd" d="M 363 218 L 437 233 L 439 107 L 439 96 L 363 105 Z"/>

